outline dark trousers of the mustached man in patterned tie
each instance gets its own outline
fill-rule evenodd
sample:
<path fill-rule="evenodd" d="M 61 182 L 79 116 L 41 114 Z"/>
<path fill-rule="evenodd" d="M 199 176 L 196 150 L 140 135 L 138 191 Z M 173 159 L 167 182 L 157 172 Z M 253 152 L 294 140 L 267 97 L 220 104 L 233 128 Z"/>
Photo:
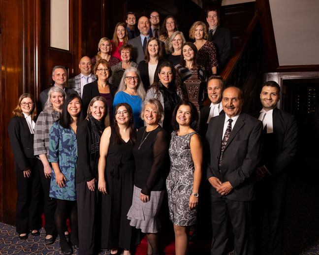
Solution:
<path fill-rule="evenodd" d="M 211 191 L 214 189 L 211 187 Z M 228 241 L 227 219 L 230 217 L 235 236 L 235 255 L 248 254 L 251 201 L 234 201 L 226 196 L 216 197 L 211 192 L 213 239 L 211 255 L 224 255 Z"/>

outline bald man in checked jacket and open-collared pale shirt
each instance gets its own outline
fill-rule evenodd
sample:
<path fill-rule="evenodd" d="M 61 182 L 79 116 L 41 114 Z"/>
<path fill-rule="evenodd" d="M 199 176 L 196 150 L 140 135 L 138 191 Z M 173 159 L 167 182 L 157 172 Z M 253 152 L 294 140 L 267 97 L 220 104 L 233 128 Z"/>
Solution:
<path fill-rule="evenodd" d="M 96 80 L 95 75 L 92 73 L 92 62 L 87 56 L 84 56 L 79 63 L 81 73 L 71 78 L 67 82 L 67 87 L 75 90 L 82 98 L 84 85 L 94 82 Z"/>

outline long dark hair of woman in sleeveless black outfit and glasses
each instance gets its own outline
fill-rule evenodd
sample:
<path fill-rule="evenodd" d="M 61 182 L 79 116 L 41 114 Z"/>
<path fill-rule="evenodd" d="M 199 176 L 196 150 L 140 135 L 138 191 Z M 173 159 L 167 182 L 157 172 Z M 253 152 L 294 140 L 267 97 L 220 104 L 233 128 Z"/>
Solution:
<path fill-rule="evenodd" d="M 130 107 L 130 105 L 128 103 L 119 103 L 115 106 L 114 109 L 114 144 L 121 144 L 123 139 L 121 137 L 120 134 L 120 128 L 117 124 L 117 121 L 115 119 L 116 116 L 116 112 L 118 111 L 118 109 L 124 106 L 127 111 L 128 111 L 128 115 L 129 115 L 129 123 L 128 123 L 128 127 L 129 127 L 129 141 L 132 144 L 135 144 L 136 141 L 136 128 L 134 126 L 134 118 L 133 118 L 133 110 L 132 107 Z"/>

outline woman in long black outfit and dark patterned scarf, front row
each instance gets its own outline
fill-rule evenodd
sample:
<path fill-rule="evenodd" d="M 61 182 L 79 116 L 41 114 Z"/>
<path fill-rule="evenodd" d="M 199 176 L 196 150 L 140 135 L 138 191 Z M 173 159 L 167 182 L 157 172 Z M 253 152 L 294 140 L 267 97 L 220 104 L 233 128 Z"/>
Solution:
<path fill-rule="evenodd" d="M 109 125 L 107 101 L 94 97 L 88 107 L 87 118 L 79 123 L 76 139 L 78 161 L 76 169 L 76 201 L 79 222 L 79 255 L 94 254 L 99 236 L 98 191 L 96 189 L 99 144 L 102 132 Z"/>

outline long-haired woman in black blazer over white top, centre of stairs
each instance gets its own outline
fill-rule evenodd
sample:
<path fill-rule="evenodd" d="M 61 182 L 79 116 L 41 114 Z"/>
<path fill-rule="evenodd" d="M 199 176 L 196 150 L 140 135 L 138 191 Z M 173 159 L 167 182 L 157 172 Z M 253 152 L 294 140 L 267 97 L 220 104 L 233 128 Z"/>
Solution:
<path fill-rule="evenodd" d="M 159 71 L 160 64 L 164 61 L 161 47 L 161 41 L 158 38 L 150 38 L 147 42 L 144 60 L 137 66 L 145 91 L 153 84 L 155 74 Z"/>

